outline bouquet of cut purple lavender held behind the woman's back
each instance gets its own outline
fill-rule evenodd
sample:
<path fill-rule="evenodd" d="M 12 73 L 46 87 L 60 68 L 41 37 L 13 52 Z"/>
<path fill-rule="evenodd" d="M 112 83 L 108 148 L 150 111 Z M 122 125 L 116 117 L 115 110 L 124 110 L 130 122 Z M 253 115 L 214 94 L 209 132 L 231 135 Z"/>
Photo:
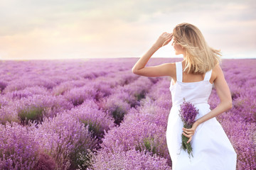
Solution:
<path fill-rule="evenodd" d="M 183 103 L 181 104 L 181 110 L 179 111 L 179 116 L 181 117 L 181 120 L 183 122 L 183 128 L 192 128 L 193 123 L 195 123 L 196 115 L 198 114 L 198 109 L 193 106 L 192 103 L 186 102 L 185 98 Z M 181 142 L 181 148 L 183 150 L 187 150 L 188 157 L 191 158 L 192 154 L 192 147 L 191 142 L 188 142 L 188 137 L 184 136 L 182 134 L 182 142 Z"/>

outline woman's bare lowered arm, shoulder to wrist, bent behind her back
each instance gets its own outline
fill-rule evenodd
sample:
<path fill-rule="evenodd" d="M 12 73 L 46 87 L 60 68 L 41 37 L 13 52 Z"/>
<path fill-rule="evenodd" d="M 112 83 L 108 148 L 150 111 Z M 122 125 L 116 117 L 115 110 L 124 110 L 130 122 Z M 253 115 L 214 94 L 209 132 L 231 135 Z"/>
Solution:
<path fill-rule="evenodd" d="M 220 98 L 220 103 L 212 111 L 210 111 L 203 117 L 196 120 L 196 123 L 198 123 L 198 125 L 232 108 L 232 98 L 230 94 L 230 89 L 228 87 L 227 82 L 225 81 L 223 71 L 220 68 L 219 64 L 215 66 L 214 72 L 215 72 L 216 78 L 213 82 L 214 82 L 214 86 L 217 91 L 217 94 Z"/>

